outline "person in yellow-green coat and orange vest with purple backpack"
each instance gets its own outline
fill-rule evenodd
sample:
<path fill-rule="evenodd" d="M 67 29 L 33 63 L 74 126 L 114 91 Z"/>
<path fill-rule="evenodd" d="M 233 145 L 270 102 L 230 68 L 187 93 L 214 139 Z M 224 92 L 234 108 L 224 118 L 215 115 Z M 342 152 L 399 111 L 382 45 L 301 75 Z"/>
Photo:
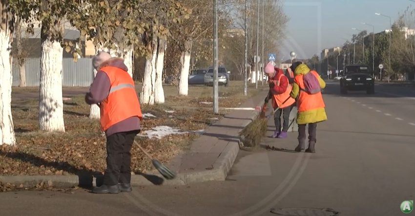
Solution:
<path fill-rule="evenodd" d="M 305 150 L 306 125 L 309 126 L 308 153 L 315 153 L 317 123 L 327 120 L 325 104 L 321 90 L 326 83 L 316 71 L 311 71 L 306 64 L 294 68 L 294 84 L 290 96 L 297 100 L 298 146 L 296 152 Z"/>

